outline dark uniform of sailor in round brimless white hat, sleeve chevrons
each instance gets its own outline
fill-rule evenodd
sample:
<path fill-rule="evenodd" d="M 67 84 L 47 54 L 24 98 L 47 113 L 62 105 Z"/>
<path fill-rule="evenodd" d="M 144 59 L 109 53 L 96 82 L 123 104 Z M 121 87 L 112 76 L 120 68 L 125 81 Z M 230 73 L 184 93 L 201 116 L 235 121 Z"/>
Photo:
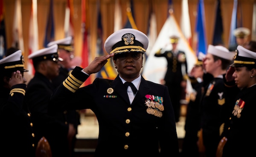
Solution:
<path fill-rule="evenodd" d="M 222 110 L 226 105 L 226 92 L 223 76 L 213 78 L 204 87 L 200 104 L 201 128 L 203 129 L 203 142 L 207 156 L 214 156 L 221 139 L 220 127 L 223 123 Z"/>

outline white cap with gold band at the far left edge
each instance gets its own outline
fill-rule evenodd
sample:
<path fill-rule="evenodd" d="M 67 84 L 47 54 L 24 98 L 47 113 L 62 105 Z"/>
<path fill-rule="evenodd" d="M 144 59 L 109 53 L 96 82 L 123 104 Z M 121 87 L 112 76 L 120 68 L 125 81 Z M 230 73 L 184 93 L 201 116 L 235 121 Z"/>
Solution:
<path fill-rule="evenodd" d="M 26 72 L 28 70 L 24 69 L 24 58 L 21 50 L 17 50 L 9 56 L 0 60 L 1 72 L 14 72 L 20 70 L 21 72 Z"/>

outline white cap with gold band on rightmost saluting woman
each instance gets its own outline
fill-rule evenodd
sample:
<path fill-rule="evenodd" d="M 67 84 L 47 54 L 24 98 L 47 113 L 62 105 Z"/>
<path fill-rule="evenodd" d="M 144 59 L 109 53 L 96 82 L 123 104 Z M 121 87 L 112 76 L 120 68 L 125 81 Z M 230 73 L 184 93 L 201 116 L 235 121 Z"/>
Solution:
<path fill-rule="evenodd" d="M 234 59 L 234 63 L 230 65 L 232 67 L 256 66 L 256 52 L 248 50 L 240 45 L 237 46 Z"/>

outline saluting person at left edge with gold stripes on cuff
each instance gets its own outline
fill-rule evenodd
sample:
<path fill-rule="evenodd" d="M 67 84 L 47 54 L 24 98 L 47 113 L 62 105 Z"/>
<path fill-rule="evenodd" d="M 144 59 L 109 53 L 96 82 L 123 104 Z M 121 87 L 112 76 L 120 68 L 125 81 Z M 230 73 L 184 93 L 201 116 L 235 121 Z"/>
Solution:
<path fill-rule="evenodd" d="M 0 151 L 10 156 L 34 157 L 38 143 L 31 114 L 24 103 L 26 78 L 22 51 L 8 48 L 0 60 Z M 15 142 L 15 150 L 12 144 Z"/>

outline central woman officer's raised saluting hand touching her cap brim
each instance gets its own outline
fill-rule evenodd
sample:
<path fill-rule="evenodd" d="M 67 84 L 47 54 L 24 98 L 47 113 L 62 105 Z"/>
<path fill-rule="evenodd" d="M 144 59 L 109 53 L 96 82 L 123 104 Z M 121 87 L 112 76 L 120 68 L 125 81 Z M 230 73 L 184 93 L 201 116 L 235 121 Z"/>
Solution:
<path fill-rule="evenodd" d="M 101 70 L 101 68 L 108 62 L 107 59 L 113 56 L 114 54 L 112 53 L 107 56 L 96 57 L 93 62 L 91 62 L 87 67 L 84 68 L 84 72 L 88 75 L 99 72 L 99 70 Z"/>

